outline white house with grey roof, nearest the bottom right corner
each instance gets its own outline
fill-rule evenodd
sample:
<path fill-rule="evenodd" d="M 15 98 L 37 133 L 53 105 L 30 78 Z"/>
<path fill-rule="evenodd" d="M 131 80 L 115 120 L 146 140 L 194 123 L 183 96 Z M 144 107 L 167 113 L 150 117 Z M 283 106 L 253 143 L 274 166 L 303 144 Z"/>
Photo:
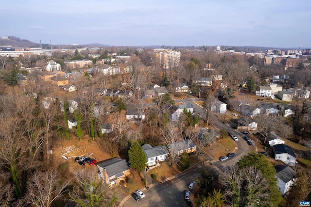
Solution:
<path fill-rule="evenodd" d="M 276 169 L 278 190 L 284 195 L 294 184 L 297 173 L 290 166 L 276 165 L 274 168 Z"/>

